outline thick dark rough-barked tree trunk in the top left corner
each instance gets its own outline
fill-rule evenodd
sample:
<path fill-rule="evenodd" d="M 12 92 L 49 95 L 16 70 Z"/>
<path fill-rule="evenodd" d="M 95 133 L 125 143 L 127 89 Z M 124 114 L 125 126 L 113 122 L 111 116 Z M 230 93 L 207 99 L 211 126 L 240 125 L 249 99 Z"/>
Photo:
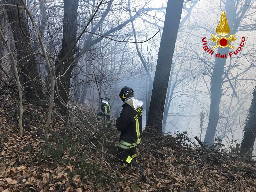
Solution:
<path fill-rule="evenodd" d="M 21 1 L 15 0 L 4 0 L 3 3 L 23 6 Z M 25 10 L 19 9 L 20 24 L 18 8 L 8 6 L 6 7 L 6 10 L 13 30 L 14 40 L 16 41 L 18 59 L 20 60 L 24 58 L 19 62 L 19 66 L 23 73 L 27 99 L 42 99 L 44 98 L 42 81 L 38 73 L 37 61 L 32 54 L 34 50 L 32 49 L 31 40 L 28 38 L 30 36 L 30 31 Z"/>

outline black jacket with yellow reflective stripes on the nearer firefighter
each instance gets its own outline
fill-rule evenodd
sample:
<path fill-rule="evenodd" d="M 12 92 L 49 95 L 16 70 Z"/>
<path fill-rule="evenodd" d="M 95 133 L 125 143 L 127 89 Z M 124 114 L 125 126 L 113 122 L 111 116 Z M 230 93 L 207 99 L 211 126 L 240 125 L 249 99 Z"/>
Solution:
<path fill-rule="evenodd" d="M 142 133 L 142 107 L 134 110 L 130 105 L 124 104 L 120 117 L 116 120 L 116 128 L 121 131 L 120 143 L 118 147 L 122 149 L 131 149 L 140 144 Z M 131 136 L 127 133 L 129 132 Z"/>

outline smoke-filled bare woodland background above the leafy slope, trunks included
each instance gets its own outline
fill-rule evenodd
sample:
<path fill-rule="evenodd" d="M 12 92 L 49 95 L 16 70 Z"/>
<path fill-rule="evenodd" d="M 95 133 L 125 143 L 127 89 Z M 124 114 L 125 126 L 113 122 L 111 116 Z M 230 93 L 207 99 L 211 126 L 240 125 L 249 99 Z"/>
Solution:
<path fill-rule="evenodd" d="M 20 134 L 23 102 L 47 105 L 46 143 L 55 117 L 96 119 L 106 97 L 115 123 L 126 86 L 144 103 L 145 133 L 238 151 L 243 141 L 253 156 L 255 0 L 187 0 L 181 12 L 169 0 L 169 13 L 167 2 L 2 0 L 0 91 L 17 99 Z"/>

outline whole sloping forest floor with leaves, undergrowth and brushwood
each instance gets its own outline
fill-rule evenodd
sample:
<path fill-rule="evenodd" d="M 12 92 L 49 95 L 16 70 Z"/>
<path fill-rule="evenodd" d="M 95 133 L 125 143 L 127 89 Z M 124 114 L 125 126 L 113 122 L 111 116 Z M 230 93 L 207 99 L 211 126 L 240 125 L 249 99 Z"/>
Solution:
<path fill-rule="evenodd" d="M 24 105 L 24 136 L 18 133 L 18 101 L 0 99 L 0 191 L 256 191 L 254 162 L 241 161 L 237 156 L 215 151 L 207 153 L 187 138 L 156 136 L 143 133 L 141 148 L 145 157 L 141 173 L 121 166 L 107 155 L 115 171 L 100 151 L 114 154 L 119 133 L 114 122 L 104 129 L 95 123 L 91 141 L 99 151 L 87 149 L 85 143 L 65 129 L 64 120 L 53 118 L 46 146 L 43 126 L 47 108 Z M 101 126 L 99 126 L 101 127 Z M 98 131 L 97 131 L 98 130 Z M 105 138 L 105 139 L 104 139 Z M 115 138 L 115 141 L 111 139 Z M 182 139 L 183 138 L 183 139 Z M 107 142 L 109 141 L 109 142 Z M 104 145 L 103 145 L 104 143 Z M 137 161 L 143 166 L 137 150 Z M 119 176 L 120 177 L 119 177 Z M 124 182 L 123 182 L 123 181 Z"/>

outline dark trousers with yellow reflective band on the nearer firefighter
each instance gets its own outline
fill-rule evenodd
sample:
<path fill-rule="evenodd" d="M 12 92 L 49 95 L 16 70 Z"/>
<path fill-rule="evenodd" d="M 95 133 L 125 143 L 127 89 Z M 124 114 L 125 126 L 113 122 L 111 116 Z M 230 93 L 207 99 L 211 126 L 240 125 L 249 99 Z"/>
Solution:
<path fill-rule="evenodd" d="M 128 166 L 132 165 L 133 167 L 137 168 L 140 167 L 140 165 L 136 162 L 136 147 L 128 150 L 118 148 L 116 157 L 123 164 Z"/>

